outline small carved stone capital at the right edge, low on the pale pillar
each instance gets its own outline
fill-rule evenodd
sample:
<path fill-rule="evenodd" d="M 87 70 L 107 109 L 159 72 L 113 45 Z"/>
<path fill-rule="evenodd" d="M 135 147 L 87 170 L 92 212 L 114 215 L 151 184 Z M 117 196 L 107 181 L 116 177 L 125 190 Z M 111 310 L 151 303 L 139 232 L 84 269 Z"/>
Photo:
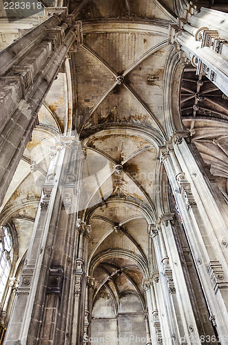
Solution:
<path fill-rule="evenodd" d="M 211 278 L 211 282 L 214 287 L 215 294 L 218 293 L 218 290 L 221 288 L 228 288 L 228 282 L 225 279 L 224 272 L 222 270 L 222 265 L 218 261 L 212 261 L 209 263 L 207 268 L 207 273 Z"/>

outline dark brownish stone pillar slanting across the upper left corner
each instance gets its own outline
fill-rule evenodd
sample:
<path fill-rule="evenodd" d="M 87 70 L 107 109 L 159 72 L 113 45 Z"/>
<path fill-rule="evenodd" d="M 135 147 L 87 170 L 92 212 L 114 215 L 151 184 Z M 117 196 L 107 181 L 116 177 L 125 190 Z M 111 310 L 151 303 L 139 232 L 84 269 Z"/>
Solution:
<path fill-rule="evenodd" d="M 53 14 L 0 53 L 0 203 L 79 23 Z"/>

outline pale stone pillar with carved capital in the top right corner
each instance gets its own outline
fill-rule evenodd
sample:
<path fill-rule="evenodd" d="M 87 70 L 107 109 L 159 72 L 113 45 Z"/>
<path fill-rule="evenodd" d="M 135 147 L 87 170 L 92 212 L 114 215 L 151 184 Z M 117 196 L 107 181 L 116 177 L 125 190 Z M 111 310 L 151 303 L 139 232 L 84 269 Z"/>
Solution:
<path fill-rule="evenodd" d="M 206 75 L 228 96 L 228 35 L 222 27 L 227 27 L 225 21 L 228 16 L 206 8 L 200 12 L 202 15 L 198 14 L 195 6 L 189 5 L 185 18 L 178 19 L 178 26 L 170 26 L 170 41 L 184 52 L 181 57 L 187 57 L 196 67 L 197 75 Z M 222 30 L 218 30 L 220 28 Z"/>

